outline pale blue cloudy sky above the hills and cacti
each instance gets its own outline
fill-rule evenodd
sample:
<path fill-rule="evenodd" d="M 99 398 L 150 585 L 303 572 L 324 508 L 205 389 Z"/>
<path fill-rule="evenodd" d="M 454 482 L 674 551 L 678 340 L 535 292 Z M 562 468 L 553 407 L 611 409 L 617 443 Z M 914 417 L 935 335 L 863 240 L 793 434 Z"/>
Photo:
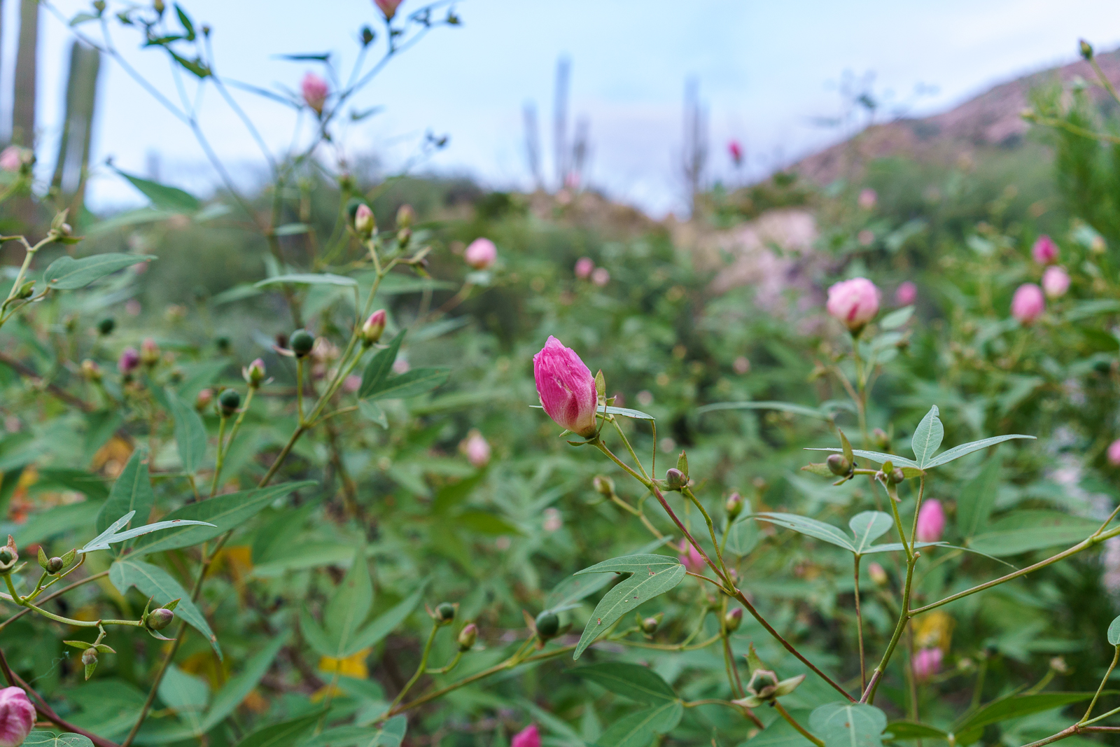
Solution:
<path fill-rule="evenodd" d="M 18 3 L 6 4 L 10 17 Z M 66 17 L 88 6 L 56 4 Z M 196 21 L 213 26 L 218 69 L 262 86 L 295 87 L 312 69 L 277 54 L 332 50 L 348 64 L 357 29 L 379 28 L 370 0 L 183 4 Z M 420 4 L 405 0 L 402 11 Z M 676 164 L 690 75 L 700 81 L 709 106 L 713 172 L 728 174 L 724 144 L 735 137 L 758 174 L 838 137 L 812 120 L 839 113 L 836 88 L 844 71 L 874 72 L 876 90 L 900 100 L 918 83 L 936 86 L 917 109 L 933 111 L 993 83 L 1068 62 L 1080 36 L 1101 49 L 1120 44 L 1120 15 L 1108 0 L 464 0 L 455 7 L 461 27 L 433 30 L 362 95 L 358 109 L 382 104 L 385 111 L 347 128 L 340 138 L 347 155 L 375 152 L 399 165 L 431 129 L 449 134 L 450 146 L 423 169 L 470 174 L 495 187 L 523 186 L 522 103 L 536 101 L 543 129 L 551 116 L 556 62 L 566 54 L 572 60 L 572 113 L 590 120 L 591 181 L 655 214 L 681 206 Z M 12 21 L 3 24 L 4 80 L 11 75 Z M 44 11 L 41 32 L 39 158 L 49 168 L 68 31 Z M 136 35 L 115 38 L 138 69 L 177 100 L 165 59 L 139 50 Z M 155 151 L 165 180 L 196 190 L 213 183 L 189 130 L 115 64 L 103 71 L 95 158 L 112 156 L 122 168 L 143 172 Z M 292 113 L 252 95 L 237 97 L 270 146 L 290 142 Z M 242 172 L 260 162 L 249 134 L 213 92 L 202 112 L 224 159 Z M 96 179 L 93 197 L 102 206 L 134 200 L 108 176 Z"/>

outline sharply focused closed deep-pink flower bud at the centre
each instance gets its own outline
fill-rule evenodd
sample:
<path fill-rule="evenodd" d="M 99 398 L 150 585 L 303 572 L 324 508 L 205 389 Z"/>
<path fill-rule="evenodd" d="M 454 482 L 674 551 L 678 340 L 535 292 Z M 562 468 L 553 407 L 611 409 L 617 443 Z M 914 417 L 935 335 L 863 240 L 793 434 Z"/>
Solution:
<path fill-rule="evenodd" d="M 595 433 L 595 408 L 599 401 L 595 377 L 576 351 L 550 335 L 541 352 L 533 356 L 533 377 L 544 412 L 558 426 L 584 437 Z"/>

